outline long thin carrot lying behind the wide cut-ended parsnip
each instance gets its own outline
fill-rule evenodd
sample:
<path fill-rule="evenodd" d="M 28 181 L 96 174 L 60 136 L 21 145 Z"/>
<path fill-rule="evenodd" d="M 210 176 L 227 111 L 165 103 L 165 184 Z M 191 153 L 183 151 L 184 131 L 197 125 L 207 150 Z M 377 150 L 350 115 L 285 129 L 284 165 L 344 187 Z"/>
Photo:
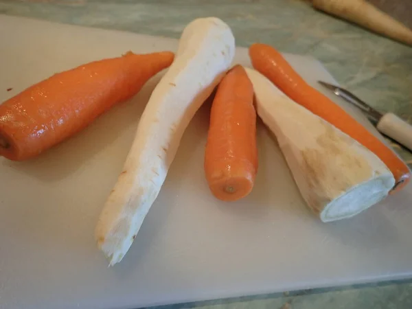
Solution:
<path fill-rule="evenodd" d="M 253 44 L 249 47 L 249 56 L 253 67 L 271 80 L 289 98 L 374 152 L 395 177 L 396 184 L 391 193 L 409 183 L 411 172 L 398 155 L 346 113 L 343 108 L 310 87 L 276 49 L 264 44 Z"/>

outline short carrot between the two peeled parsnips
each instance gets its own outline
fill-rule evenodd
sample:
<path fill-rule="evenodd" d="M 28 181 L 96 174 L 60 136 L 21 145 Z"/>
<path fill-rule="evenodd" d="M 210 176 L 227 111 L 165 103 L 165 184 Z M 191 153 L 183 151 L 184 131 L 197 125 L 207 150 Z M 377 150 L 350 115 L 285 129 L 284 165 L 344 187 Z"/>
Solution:
<path fill-rule="evenodd" d="M 236 201 L 251 192 L 257 170 L 253 86 L 236 65 L 220 82 L 211 106 L 205 174 L 216 198 Z"/>

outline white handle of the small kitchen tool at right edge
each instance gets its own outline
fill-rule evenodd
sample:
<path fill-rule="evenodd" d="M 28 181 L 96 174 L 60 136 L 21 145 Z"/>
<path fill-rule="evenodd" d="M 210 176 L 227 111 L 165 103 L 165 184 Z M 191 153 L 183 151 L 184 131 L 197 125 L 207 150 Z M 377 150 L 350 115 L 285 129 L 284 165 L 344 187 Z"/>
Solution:
<path fill-rule="evenodd" d="M 380 118 L 376 126 L 380 132 L 412 150 L 412 126 L 393 113 Z"/>

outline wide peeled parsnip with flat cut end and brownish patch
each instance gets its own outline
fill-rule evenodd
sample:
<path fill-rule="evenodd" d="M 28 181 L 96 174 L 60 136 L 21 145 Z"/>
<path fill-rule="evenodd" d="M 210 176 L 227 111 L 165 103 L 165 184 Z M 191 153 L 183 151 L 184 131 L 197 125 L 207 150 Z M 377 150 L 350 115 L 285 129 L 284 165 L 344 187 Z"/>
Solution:
<path fill-rule="evenodd" d="M 247 74 L 258 115 L 276 136 L 306 204 L 323 222 L 350 218 L 387 196 L 395 179 L 373 152 L 293 102 L 258 71 Z"/>

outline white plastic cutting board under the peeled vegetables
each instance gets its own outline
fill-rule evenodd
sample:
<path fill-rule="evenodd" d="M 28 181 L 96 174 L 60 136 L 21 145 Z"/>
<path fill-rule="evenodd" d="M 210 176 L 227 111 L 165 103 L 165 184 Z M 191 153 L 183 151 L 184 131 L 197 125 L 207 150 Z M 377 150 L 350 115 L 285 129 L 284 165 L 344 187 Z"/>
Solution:
<path fill-rule="evenodd" d="M 0 42 L 0 101 L 84 62 L 176 49 L 168 38 L 1 15 Z M 310 84 L 334 82 L 316 60 L 286 56 Z M 246 49 L 236 62 L 250 65 Z M 255 189 L 216 201 L 203 176 L 209 104 L 187 128 L 133 247 L 108 268 L 95 223 L 154 85 L 33 161 L 0 159 L 1 309 L 137 308 L 412 276 L 412 187 L 323 224 L 261 124 Z"/>

